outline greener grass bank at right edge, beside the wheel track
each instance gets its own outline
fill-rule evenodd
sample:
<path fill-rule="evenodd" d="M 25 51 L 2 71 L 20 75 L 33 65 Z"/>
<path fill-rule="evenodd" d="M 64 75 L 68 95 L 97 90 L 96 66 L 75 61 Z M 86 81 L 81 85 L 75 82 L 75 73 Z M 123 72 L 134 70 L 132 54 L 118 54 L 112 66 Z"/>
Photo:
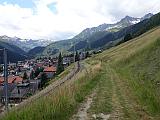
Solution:
<path fill-rule="evenodd" d="M 160 38 L 138 53 L 114 65 L 126 80 L 144 109 L 152 115 L 160 114 Z"/>

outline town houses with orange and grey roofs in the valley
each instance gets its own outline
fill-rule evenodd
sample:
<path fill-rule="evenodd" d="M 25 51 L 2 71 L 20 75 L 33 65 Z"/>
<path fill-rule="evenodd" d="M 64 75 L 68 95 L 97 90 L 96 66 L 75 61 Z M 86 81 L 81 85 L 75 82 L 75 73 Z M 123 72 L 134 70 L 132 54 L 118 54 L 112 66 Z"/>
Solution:
<path fill-rule="evenodd" d="M 84 59 L 85 54 L 80 54 Z M 74 62 L 73 56 L 63 57 L 66 68 Z M 8 64 L 8 99 L 11 104 L 18 104 L 23 99 L 35 94 L 41 86 L 41 75 L 46 74 L 47 79 L 55 76 L 58 64 L 57 58 L 38 58 Z M 3 64 L 0 65 L 0 106 L 5 102 L 5 82 Z"/>

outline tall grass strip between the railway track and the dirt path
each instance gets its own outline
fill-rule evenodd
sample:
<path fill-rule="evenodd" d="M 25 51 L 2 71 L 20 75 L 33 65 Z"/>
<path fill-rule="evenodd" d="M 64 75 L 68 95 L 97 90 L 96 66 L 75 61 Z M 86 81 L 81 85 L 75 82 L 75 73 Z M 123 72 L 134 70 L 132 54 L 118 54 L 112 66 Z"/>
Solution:
<path fill-rule="evenodd" d="M 93 67 L 93 66 L 92 66 Z M 94 68 L 94 67 L 93 67 Z M 99 81 L 100 69 L 82 71 L 56 91 L 19 110 L 12 110 L 2 120 L 67 120 Z M 88 76 L 90 74 L 90 76 Z"/>

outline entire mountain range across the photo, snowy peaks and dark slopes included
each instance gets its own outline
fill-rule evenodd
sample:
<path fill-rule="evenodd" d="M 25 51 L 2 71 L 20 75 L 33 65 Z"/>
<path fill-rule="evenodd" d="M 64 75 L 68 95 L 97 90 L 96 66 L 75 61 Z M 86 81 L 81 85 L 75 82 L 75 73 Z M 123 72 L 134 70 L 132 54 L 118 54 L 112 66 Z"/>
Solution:
<path fill-rule="evenodd" d="M 160 13 L 151 13 L 142 18 L 126 16 L 115 24 L 102 24 L 97 27 L 87 28 L 72 39 L 61 40 L 51 43 L 45 40 L 23 40 L 17 37 L 0 36 L 0 49 L 8 49 L 10 62 L 24 60 L 37 55 L 57 55 L 58 52 L 69 53 L 76 50 L 104 49 L 116 45 L 126 34 L 136 37 L 144 32 L 160 25 Z M 51 44 L 49 44 L 51 43 Z M 45 45 L 48 46 L 44 47 Z M 2 56 L 0 62 L 2 63 Z"/>

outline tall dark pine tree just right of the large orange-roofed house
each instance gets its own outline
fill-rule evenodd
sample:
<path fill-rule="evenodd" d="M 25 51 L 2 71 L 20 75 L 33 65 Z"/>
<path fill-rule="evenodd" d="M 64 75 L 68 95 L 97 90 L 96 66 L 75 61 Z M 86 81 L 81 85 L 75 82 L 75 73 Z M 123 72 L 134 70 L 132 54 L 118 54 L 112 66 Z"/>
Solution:
<path fill-rule="evenodd" d="M 62 54 L 60 53 L 58 56 L 58 65 L 57 65 L 57 74 L 60 74 L 61 72 L 64 71 L 64 66 L 63 66 L 63 57 Z"/>

